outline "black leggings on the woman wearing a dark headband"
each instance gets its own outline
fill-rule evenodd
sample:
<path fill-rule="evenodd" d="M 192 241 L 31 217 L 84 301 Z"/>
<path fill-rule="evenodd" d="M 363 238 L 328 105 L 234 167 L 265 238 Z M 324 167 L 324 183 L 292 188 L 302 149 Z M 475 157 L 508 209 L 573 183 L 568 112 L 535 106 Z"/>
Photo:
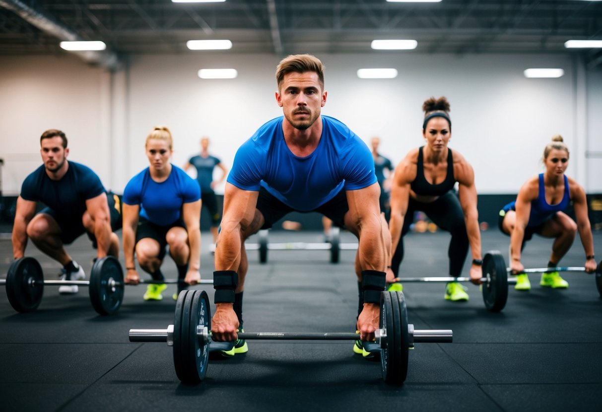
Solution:
<path fill-rule="evenodd" d="M 414 220 L 414 212 L 418 210 L 426 213 L 439 228 L 452 234 L 450 247 L 447 250 L 447 256 L 450 258 L 450 276 L 460 276 L 468 254 L 468 235 L 466 234 L 466 223 L 464 223 L 464 213 L 460 201 L 453 192 L 447 192 L 430 203 L 418 202 L 409 198 L 408 211 L 405 219 L 403 219 L 402 235 L 391 264 L 393 273 L 395 276 L 399 273 L 399 265 L 403 260 L 403 237 L 408 233 Z M 432 252 L 436 251 L 433 250 Z"/>

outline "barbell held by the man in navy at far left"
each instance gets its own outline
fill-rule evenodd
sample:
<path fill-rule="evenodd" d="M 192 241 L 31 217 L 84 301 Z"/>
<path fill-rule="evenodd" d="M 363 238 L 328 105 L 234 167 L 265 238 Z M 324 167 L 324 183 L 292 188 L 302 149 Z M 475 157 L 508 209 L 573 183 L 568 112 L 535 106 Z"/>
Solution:
<path fill-rule="evenodd" d="M 140 280 L 149 283 L 184 283 L 182 280 Z M 200 283 L 213 283 L 213 279 L 201 279 Z M 42 266 L 36 258 L 16 259 L 8 268 L 5 284 L 8 302 L 17 312 L 33 312 L 40 306 L 45 285 L 88 286 L 90 302 L 101 315 L 112 315 L 123 301 L 123 270 L 113 256 L 96 259 L 92 265 L 90 280 L 45 280 Z"/>

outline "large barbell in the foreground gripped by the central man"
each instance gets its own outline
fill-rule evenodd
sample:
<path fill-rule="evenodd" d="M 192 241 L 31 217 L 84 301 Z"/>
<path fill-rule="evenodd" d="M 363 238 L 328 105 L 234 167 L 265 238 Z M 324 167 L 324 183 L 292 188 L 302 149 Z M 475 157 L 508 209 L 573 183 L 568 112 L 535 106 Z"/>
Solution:
<path fill-rule="evenodd" d="M 382 377 L 386 383 L 402 384 L 408 374 L 408 352 L 416 343 L 452 342 L 452 330 L 415 330 L 408 324 L 403 292 L 380 295 L 380 323 L 376 339 L 380 345 Z M 130 342 L 166 342 L 173 347 L 173 365 L 179 380 L 201 382 L 207 373 L 209 352 L 231 348 L 233 342 L 211 339 L 211 308 L 205 291 L 182 291 L 176 302 L 173 325 L 167 329 L 130 329 Z M 356 333 L 240 332 L 239 339 L 312 341 L 355 341 Z"/>

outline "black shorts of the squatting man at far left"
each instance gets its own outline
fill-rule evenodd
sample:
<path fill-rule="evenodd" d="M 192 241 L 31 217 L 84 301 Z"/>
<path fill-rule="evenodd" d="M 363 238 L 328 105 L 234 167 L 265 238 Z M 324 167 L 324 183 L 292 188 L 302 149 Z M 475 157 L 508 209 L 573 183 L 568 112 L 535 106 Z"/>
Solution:
<path fill-rule="evenodd" d="M 114 232 L 120 229 L 123 225 L 123 220 L 121 217 L 121 198 L 113 192 L 107 192 L 107 203 L 111 216 L 111 231 Z M 48 214 L 49 216 L 52 216 L 54 220 L 56 220 L 58 227 L 61 228 L 61 241 L 63 244 L 71 244 L 76 238 L 80 237 L 84 233 L 87 233 L 88 238 L 92 241 L 92 247 L 96 249 L 96 237 L 93 233 L 86 231 L 82 221 L 83 215 L 64 216 L 63 214 L 58 214 L 55 210 L 52 210 L 49 207 L 43 208 L 39 213 Z"/>

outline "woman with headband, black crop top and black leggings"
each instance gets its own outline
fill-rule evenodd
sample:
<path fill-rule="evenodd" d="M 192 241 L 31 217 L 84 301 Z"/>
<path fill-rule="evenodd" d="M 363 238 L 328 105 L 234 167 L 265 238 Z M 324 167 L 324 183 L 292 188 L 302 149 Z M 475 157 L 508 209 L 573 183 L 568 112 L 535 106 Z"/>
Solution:
<path fill-rule="evenodd" d="M 391 185 L 389 229 L 394 252 L 391 270 L 397 276 L 403 260 L 403 236 L 409 231 L 414 212 L 420 210 L 439 228 L 452 234 L 448 249 L 450 276 L 461 276 L 470 243 L 473 252 L 470 278 L 478 285 L 483 262 L 473 168 L 458 151 L 448 148 L 452 120 L 447 98 L 431 97 L 424 101 L 422 108 L 422 135 L 426 145 L 406 155 L 395 169 Z M 453 190 L 456 182 L 458 195 Z M 389 286 L 389 289 L 396 288 L 399 290 L 401 285 Z M 459 282 L 447 283 L 444 297 L 452 301 L 468 300 L 468 294 Z"/>

